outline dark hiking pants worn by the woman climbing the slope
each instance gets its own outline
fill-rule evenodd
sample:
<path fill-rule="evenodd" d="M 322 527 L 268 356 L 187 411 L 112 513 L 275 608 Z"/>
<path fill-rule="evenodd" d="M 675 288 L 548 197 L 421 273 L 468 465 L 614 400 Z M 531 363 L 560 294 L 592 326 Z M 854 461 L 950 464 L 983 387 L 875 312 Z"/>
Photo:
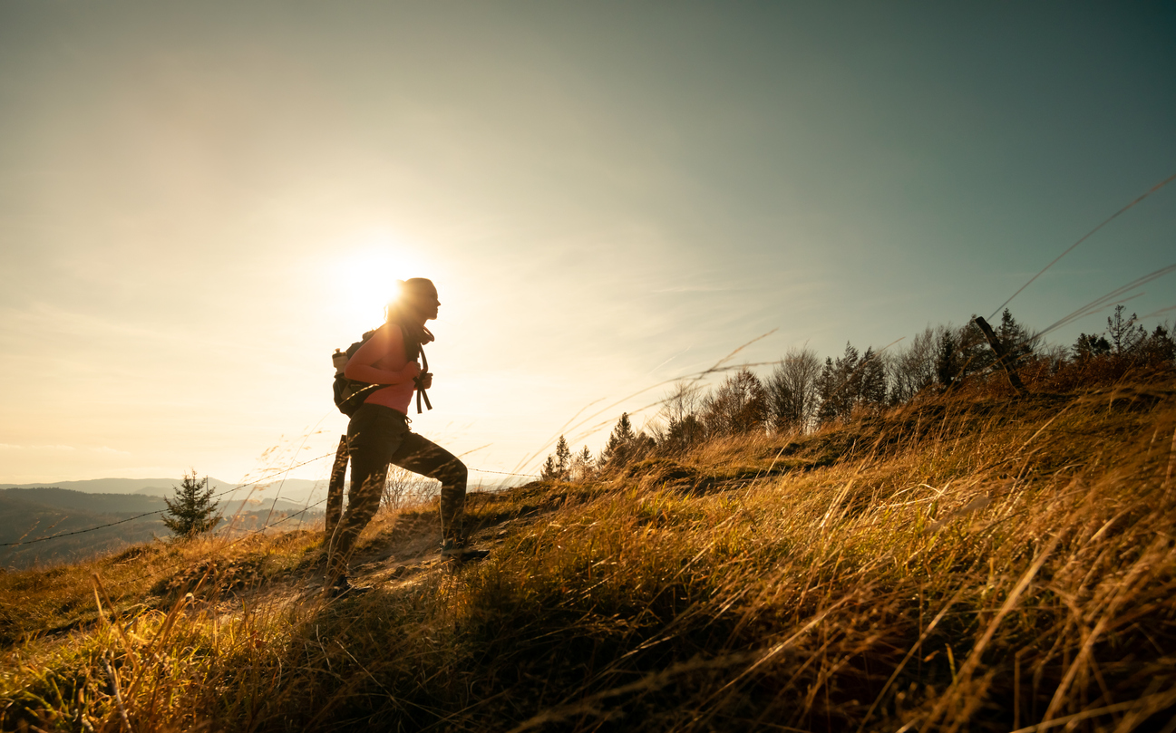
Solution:
<path fill-rule="evenodd" d="M 347 573 L 347 561 L 360 532 L 380 509 L 389 464 L 441 482 L 441 536 L 445 540 L 460 538 L 468 471 L 456 456 L 410 432 L 408 421 L 396 410 L 374 404 L 360 405 L 352 416 L 347 449 L 352 487 L 347 511 L 328 538 L 328 581 Z"/>

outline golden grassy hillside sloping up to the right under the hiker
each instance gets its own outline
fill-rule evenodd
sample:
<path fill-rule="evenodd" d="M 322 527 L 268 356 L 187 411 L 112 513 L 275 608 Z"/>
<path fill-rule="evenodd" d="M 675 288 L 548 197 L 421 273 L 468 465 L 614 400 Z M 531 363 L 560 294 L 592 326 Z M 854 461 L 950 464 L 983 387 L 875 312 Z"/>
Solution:
<path fill-rule="evenodd" d="M 0 574 L 0 721 L 1172 731 L 1174 431 L 1170 383 L 918 399 L 474 495 L 477 565 L 383 513 L 332 603 L 306 531 Z"/>

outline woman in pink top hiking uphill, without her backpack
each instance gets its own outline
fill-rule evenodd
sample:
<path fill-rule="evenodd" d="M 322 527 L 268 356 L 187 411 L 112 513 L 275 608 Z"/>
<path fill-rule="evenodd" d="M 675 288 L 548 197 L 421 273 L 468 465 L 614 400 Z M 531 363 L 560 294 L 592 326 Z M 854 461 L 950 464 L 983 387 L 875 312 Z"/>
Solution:
<path fill-rule="evenodd" d="M 441 482 L 442 558 L 472 560 L 487 554 L 467 549 L 461 533 L 465 464 L 408 428 L 413 392 L 423 392 L 433 385 L 433 375 L 421 371 L 417 358 L 421 345 L 433 341 L 425 323 L 437 317 L 440 305 L 432 281 L 423 277 L 403 281 L 400 296 L 388 305 L 387 322 L 347 361 L 343 370 L 348 379 L 386 386 L 372 390 L 347 425 L 352 487 L 347 511 L 327 542 L 327 592 L 333 597 L 353 589 L 347 579 L 347 564 L 360 532 L 380 507 L 388 465 L 393 463 Z"/>

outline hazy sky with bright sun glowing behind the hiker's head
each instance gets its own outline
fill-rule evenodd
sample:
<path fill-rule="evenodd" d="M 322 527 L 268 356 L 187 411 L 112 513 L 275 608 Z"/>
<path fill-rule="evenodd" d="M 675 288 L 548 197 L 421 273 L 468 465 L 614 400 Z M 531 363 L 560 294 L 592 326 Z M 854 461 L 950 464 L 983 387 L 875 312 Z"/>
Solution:
<path fill-rule="evenodd" d="M 330 352 L 397 278 L 441 300 L 413 428 L 475 485 L 757 338 L 728 364 L 987 316 L 1176 174 L 1172 38 L 1170 2 L 6 0 L 0 483 L 325 477 Z M 1009 307 L 1174 235 L 1176 183 Z M 1170 320 L 1176 275 L 1129 295 Z"/>

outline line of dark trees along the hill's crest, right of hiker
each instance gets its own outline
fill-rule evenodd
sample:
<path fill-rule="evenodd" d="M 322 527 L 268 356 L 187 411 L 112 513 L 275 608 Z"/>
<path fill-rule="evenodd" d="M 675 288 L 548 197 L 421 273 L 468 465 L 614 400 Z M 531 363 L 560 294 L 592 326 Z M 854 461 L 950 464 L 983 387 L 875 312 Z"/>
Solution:
<path fill-rule="evenodd" d="M 1040 389 L 1063 391 L 1123 377 L 1131 371 L 1170 374 L 1176 341 L 1165 324 L 1148 331 L 1138 316 L 1117 305 L 1107 330 L 1081 334 L 1070 347 L 1047 345 L 1005 309 L 994 329 L 1005 362 Z M 704 390 L 682 381 L 662 409 L 636 431 L 621 415 L 603 450 L 573 455 L 560 436 L 541 476 L 575 480 L 650 456 L 681 456 L 707 441 L 747 433 L 808 432 L 831 423 L 909 403 L 924 395 L 1002 381 L 1002 366 L 975 318 L 962 327 L 928 325 L 904 347 L 861 351 L 851 343 L 822 362 L 811 349 L 790 349 L 760 377 L 743 368 Z"/>

